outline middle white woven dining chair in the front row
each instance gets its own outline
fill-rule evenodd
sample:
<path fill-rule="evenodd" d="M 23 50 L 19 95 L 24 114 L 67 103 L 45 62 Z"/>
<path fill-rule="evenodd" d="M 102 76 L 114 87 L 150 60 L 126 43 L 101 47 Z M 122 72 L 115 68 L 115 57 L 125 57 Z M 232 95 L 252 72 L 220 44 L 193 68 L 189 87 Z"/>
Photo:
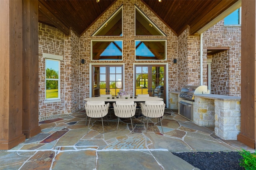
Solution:
<path fill-rule="evenodd" d="M 113 105 L 114 105 L 115 115 L 118 117 L 118 123 L 116 128 L 116 133 L 117 133 L 120 117 L 121 118 L 130 117 L 131 123 L 132 123 L 132 117 L 135 115 L 137 104 L 134 102 L 117 101 Z M 133 133 L 133 124 L 132 124 L 132 133 Z"/>

